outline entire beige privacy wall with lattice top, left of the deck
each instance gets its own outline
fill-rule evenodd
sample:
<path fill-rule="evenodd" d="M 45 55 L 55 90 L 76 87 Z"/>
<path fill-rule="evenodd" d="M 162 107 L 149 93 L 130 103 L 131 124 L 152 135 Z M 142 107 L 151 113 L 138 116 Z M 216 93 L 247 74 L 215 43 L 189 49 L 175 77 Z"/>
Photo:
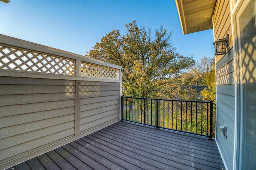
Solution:
<path fill-rule="evenodd" d="M 40 73 L 38 69 L 33 71 L 33 65 L 24 63 L 20 66 L 21 57 L 32 54 L 32 58 L 27 58 L 30 63 L 34 62 L 34 67 L 40 67 L 40 71 L 48 67 L 44 62 L 49 57 L 44 59 L 42 56 L 52 56 L 52 60 L 57 59 L 49 61 L 51 68 L 65 69 L 62 67 L 66 63 L 64 61 L 57 66 L 65 58 L 74 61 L 74 69 L 68 67 L 74 73 Z M 117 70 L 116 75 L 119 73 L 120 78 L 82 75 L 82 62 L 92 64 L 90 67 L 98 65 L 110 72 Z M 15 67 L 10 66 L 13 63 Z M 21 70 L 25 65 L 28 68 Z M 120 120 L 120 66 L 0 34 L 0 67 L 0 169 L 53 150 Z"/>

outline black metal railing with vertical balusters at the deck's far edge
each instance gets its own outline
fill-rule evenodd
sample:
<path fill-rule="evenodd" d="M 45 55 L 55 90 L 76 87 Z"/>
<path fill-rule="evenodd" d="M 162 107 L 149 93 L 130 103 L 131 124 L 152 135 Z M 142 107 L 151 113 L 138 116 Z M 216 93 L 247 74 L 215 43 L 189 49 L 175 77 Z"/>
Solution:
<path fill-rule="evenodd" d="M 122 96 L 122 120 L 212 138 L 212 101 Z"/>

